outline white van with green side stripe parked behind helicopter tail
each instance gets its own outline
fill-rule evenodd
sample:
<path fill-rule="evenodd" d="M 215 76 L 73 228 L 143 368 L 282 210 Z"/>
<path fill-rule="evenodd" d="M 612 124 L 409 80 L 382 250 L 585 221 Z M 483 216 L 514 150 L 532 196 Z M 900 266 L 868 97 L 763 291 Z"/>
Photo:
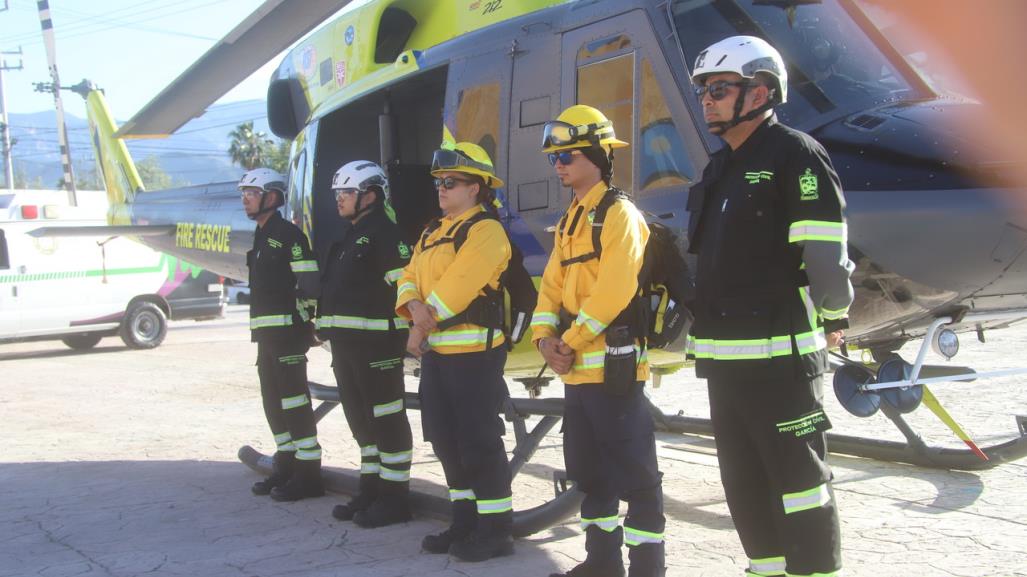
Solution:
<path fill-rule="evenodd" d="M 224 314 L 222 279 L 123 237 L 35 236 L 107 224 L 104 192 L 0 194 L 0 343 L 61 339 L 75 349 L 118 335 L 137 349 L 164 340 L 167 319 Z"/>

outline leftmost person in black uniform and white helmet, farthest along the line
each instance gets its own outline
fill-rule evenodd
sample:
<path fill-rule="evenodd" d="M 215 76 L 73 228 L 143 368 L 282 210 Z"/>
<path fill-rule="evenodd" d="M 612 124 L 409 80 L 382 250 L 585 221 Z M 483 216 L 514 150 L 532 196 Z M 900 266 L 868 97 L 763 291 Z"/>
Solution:
<path fill-rule="evenodd" d="M 320 445 L 307 391 L 307 357 L 313 308 L 320 292 L 317 261 L 307 237 L 281 218 L 286 179 L 256 168 L 239 181 L 246 217 L 257 222 L 250 267 L 250 331 L 257 343 L 264 414 L 277 450 L 271 476 L 253 486 L 257 495 L 297 501 L 325 494 Z"/>

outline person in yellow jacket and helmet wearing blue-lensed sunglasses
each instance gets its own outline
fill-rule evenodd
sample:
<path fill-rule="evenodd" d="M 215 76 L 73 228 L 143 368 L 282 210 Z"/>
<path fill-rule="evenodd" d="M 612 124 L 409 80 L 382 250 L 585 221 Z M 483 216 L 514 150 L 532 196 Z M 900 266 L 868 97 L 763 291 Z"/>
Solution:
<path fill-rule="evenodd" d="M 643 394 L 649 367 L 638 298 L 649 228 L 610 185 L 613 150 L 625 146 L 589 106 L 572 106 L 543 128 L 542 150 L 574 196 L 542 274 L 532 339 L 564 381 L 564 460 L 585 494 L 587 551 L 582 564 L 555 575 L 622 576 L 622 542 L 632 577 L 664 574 L 663 493 Z M 594 225 L 601 227 L 598 245 Z"/>

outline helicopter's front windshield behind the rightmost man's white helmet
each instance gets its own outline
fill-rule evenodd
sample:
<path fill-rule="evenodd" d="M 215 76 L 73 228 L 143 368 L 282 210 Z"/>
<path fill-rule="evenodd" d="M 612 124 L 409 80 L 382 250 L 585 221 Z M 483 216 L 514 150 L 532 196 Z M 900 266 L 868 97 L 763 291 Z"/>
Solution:
<path fill-rule="evenodd" d="M 689 69 L 728 36 L 759 36 L 776 47 L 788 64 L 788 104 L 778 108 L 786 123 L 927 95 L 837 2 L 677 0 L 672 9 Z"/>

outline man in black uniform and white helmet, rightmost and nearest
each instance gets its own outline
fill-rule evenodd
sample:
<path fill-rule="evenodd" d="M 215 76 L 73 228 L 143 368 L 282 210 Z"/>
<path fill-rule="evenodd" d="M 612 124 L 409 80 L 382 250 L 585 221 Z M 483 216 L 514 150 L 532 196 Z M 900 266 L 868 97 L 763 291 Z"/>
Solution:
<path fill-rule="evenodd" d="M 692 82 L 727 146 L 688 197 L 698 256 L 688 348 L 708 379 L 746 575 L 834 576 L 822 389 L 852 300 L 841 185 L 820 143 L 776 121 L 788 79 L 768 43 L 736 36 L 710 46 Z"/>

